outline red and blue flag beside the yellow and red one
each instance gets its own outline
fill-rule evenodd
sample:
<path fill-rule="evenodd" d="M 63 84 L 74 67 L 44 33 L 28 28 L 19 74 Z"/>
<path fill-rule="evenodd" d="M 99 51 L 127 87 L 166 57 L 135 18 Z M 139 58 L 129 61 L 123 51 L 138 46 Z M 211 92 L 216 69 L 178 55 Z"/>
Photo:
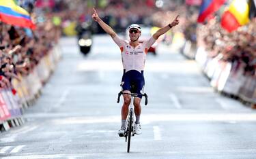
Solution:
<path fill-rule="evenodd" d="M 197 22 L 204 22 L 208 16 L 216 12 L 226 0 L 203 0 Z"/>

